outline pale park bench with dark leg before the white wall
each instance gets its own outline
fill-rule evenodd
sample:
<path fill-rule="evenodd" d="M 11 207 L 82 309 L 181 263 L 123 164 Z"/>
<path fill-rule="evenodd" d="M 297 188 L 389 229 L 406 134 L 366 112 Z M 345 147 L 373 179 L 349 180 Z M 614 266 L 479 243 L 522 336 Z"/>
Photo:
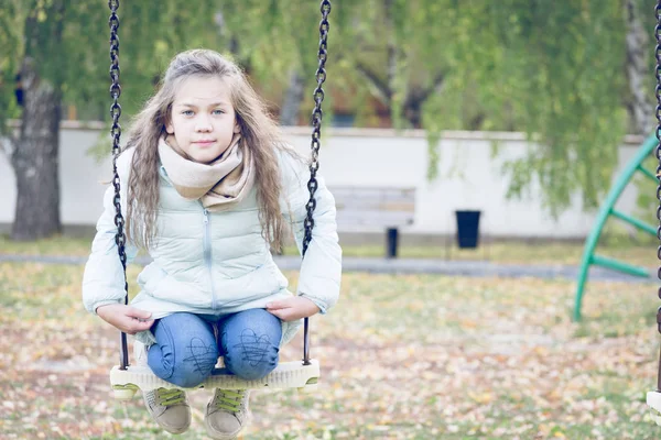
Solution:
<path fill-rule="evenodd" d="M 415 188 L 334 186 L 340 230 L 386 229 L 386 256 L 397 257 L 399 228 L 413 223 Z"/>

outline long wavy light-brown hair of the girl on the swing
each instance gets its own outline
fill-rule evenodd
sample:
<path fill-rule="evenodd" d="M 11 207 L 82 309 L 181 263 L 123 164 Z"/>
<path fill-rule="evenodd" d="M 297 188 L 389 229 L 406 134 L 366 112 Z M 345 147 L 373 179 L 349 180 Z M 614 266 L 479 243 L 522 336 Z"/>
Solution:
<path fill-rule="evenodd" d="M 239 66 L 208 50 L 192 50 L 176 55 L 165 70 L 158 91 L 132 121 L 124 147 L 134 148 L 128 186 L 128 239 L 149 249 L 156 235 L 159 139 L 165 133 L 178 86 L 192 76 L 217 76 L 228 85 L 243 145 L 251 150 L 259 176 L 256 186 L 262 235 L 273 249 L 280 249 L 286 227 L 279 202 L 281 185 L 277 151 L 295 153 L 283 142 L 280 128 Z"/>

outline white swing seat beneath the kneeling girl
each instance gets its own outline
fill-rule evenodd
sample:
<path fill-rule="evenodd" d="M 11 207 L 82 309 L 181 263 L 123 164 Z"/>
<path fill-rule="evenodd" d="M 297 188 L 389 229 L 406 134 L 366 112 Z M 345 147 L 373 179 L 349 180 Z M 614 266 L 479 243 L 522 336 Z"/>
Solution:
<path fill-rule="evenodd" d="M 245 381 L 230 374 L 226 369 L 215 369 L 212 375 L 194 388 L 183 388 L 165 382 L 154 375 L 147 365 L 130 365 L 120 370 L 116 365 L 110 370 L 110 384 L 115 398 L 130 400 L 138 389 L 148 392 L 156 388 L 221 388 L 221 389 L 258 389 L 258 388 L 299 388 L 304 392 L 316 389 L 319 378 L 319 363 L 311 359 L 310 365 L 303 362 L 281 362 L 269 375 L 256 381 Z"/>

